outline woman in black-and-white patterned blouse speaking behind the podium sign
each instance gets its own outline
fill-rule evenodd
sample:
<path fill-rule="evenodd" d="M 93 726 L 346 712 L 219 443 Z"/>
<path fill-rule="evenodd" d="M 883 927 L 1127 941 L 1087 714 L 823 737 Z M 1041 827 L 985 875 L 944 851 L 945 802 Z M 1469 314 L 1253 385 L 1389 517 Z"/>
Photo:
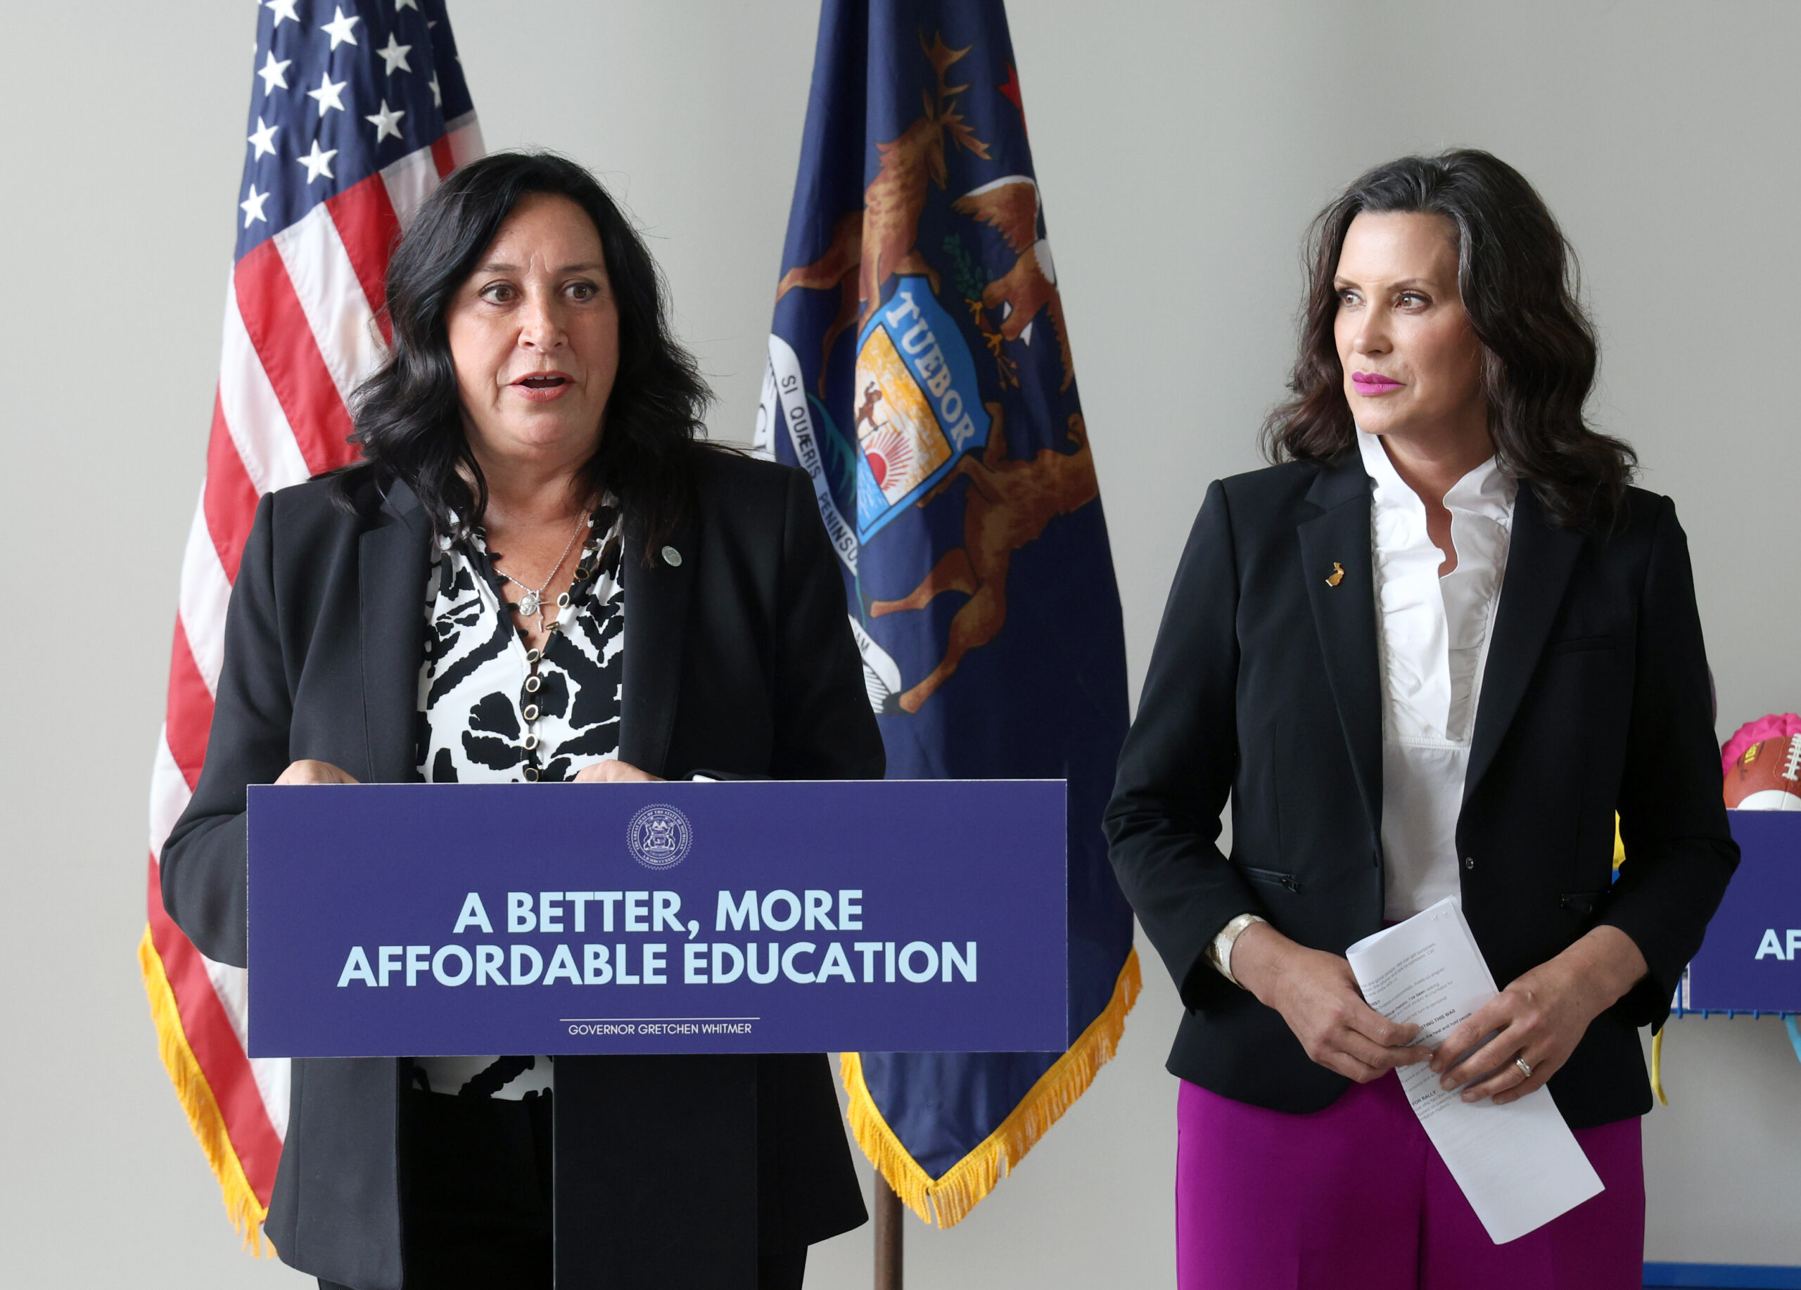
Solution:
<path fill-rule="evenodd" d="M 204 953 L 245 962 L 249 784 L 882 777 L 812 488 L 697 441 L 706 386 L 587 171 L 452 175 L 387 312 L 364 459 L 245 544 L 162 852 Z M 823 1054 L 297 1059 L 290 1106 L 267 1232 L 326 1286 L 549 1290 L 553 1214 L 560 1285 L 800 1286 L 864 1220 Z"/>

